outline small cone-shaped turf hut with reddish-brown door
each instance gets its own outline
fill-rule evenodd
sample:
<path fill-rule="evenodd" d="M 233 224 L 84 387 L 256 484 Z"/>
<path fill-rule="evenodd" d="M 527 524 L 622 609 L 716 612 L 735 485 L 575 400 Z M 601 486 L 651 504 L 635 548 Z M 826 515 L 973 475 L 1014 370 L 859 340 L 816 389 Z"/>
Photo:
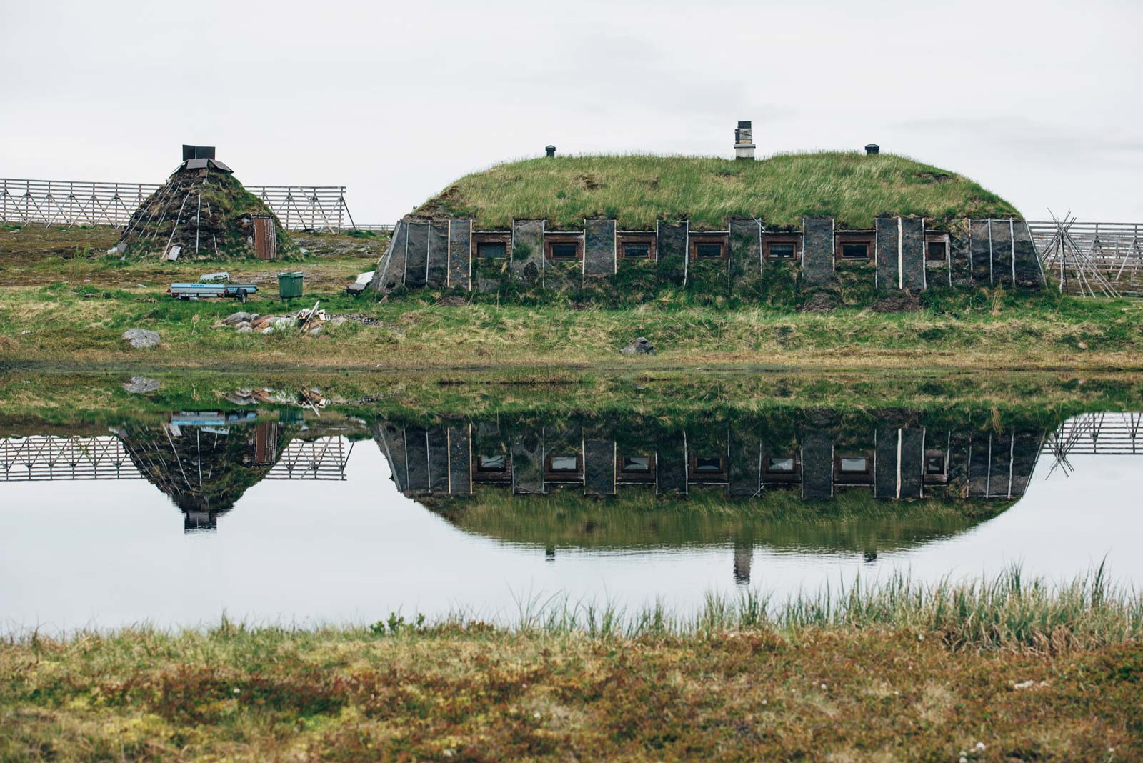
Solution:
<path fill-rule="evenodd" d="M 123 257 L 279 259 L 296 251 L 265 202 L 242 187 L 213 146 L 183 146 L 183 162 L 135 210 L 115 244 Z"/>

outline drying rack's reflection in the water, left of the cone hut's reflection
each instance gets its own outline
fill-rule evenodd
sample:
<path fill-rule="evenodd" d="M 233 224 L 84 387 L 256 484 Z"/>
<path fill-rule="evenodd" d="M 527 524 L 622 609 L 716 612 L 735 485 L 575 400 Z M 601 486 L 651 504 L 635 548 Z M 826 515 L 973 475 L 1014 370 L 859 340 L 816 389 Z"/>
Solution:
<path fill-rule="evenodd" d="M 138 480 L 141 474 L 114 435 L 0 437 L 0 481 Z"/>

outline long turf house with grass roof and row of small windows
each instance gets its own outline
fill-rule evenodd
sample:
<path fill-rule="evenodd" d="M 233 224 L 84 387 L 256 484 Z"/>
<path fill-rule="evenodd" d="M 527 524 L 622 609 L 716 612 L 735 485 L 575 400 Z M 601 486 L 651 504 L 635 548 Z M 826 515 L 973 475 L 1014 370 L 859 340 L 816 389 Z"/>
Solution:
<path fill-rule="evenodd" d="M 684 289 L 828 308 L 847 291 L 1044 283 L 998 195 L 903 156 L 824 152 L 499 164 L 400 220 L 370 288 L 604 303 Z"/>

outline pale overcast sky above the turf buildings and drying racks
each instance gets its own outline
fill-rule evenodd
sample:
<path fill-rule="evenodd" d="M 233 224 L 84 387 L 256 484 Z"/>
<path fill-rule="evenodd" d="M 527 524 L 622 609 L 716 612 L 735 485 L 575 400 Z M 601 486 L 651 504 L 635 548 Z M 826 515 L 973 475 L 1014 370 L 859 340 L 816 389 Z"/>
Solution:
<path fill-rule="evenodd" d="M 347 186 L 391 223 L 521 156 L 873 142 L 1042 218 L 1143 222 L 1143 2 L 0 0 L 0 176 Z M 765 214 L 765 210 L 761 210 Z"/>

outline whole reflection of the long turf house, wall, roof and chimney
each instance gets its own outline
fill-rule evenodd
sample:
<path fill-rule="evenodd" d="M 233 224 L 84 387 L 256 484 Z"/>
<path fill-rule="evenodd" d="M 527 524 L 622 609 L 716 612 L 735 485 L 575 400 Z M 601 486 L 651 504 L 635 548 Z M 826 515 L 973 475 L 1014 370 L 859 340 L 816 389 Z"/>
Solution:
<path fill-rule="evenodd" d="M 549 557 L 561 543 L 592 547 L 605 543 L 600 540 L 600 521 L 585 519 L 592 511 L 607 514 L 613 531 L 618 523 L 634 527 L 644 521 L 621 519 L 616 515 L 621 509 L 605 508 L 613 505 L 610 501 L 583 498 L 578 506 L 585 508 L 576 513 L 576 505 L 569 503 L 573 493 L 615 497 L 616 506 L 626 505 L 624 496 L 633 495 L 702 495 L 704 499 L 717 495 L 724 500 L 757 500 L 759 505 L 781 497 L 786 504 L 802 504 L 817 516 L 829 515 L 839 501 L 853 506 L 857 495 L 865 496 L 862 501 L 866 508 L 928 499 L 945 500 L 945 508 L 956 501 L 961 501 L 958 506 L 965 501 L 983 506 L 953 522 L 948 519 L 952 509 L 938 512 L 943 519 L 926 517 L 916 532 L 889 527 L 894 521 L 876 508 L 871 514 L 878 516 L 862 528 L 846 529 L 844 522 L 833 525 L 837 537 L 828 544 L 858 544 L 863 557 L 873 561 L 879 544 L 900 544 L 902 535 L 912 532 L 906 543 L 916 543 L 1002 511 L 1023 495 L 1044 443 L 1039 428 L 1001 434 L 951 431 L 948 425 L 925 426 L 908 412 L 846 419 L 829 411 L 802 411 L 678 428 L 649 418 L 607 424 L 495 420 L 435 426 L 386 421 L 375 424 L 373 432 L 402 493 L 466 529 L 479 525 L 478 531 L 502 539 L 542 546 Z M 562 501 L 562 514 L 541 516 L 536 513 L 539 504 L 531 503 L 530 515 L 517 515 L 510 501 L 490 498 L 494 495 L 520 500 L 550 496 L 552 501 Z M 465 500 L 469 496 L 475 498 Z M 592 509 L 593 505 L 599 508 Z M 994 508 L 988 508 L 990 505 Z M 661 514 L 664 522 L 680 522 L 677 512 L 654 501 L 639 504 L 629 514 L 636 517 L 641 513 L 646 519 L 663 511 L 668 512 Z M 573 515 L 580 519 L 573 520 Z M 734 524 L 728 529 L 732 535 L 720 543 L 733 546 L 734 577 L 745 583 L 760 540 L 752 523 L 769 522 L 761 530 L 768 538 L 782 532 L 775 531 L 773 515 L 736 516 L 741 521 L 721 525 Z M 580 525 L 572 527 L 576 521 Z M 647 520 L 644 529 L 655 522 Z M 652 531 L 662 530 L 664 522 Z M 809 535 L 818 539 L 829 536 L 821 527 L 818 523 Z M 681 527 L 676 529 L 681 538 Z M 784 536 L 782 543 L 799 541 Z"/>

